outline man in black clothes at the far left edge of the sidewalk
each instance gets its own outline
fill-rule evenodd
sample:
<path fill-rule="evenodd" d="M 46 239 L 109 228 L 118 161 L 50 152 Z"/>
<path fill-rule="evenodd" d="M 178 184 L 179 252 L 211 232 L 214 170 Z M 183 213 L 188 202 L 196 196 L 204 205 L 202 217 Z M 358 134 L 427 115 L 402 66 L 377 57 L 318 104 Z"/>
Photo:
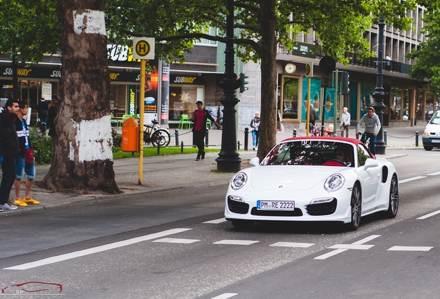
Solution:
<path fill-rule="evenodd" d="M 17 206 L 10 204 L 9 194 L 15 181 L 15 160 L 19 152 L 17 130 L 15 129 L 14 120 L 17 118 L 19 105 L 17 100 L 9 99 L 6 101 L 5 109 L 0 116 L 0 122 L 4 129 L 1 136 L 3 143 L 3 162 L 1 163 L 1 171 L 3 177 L 0 185 L 0 209 L 16 210 Z"/>

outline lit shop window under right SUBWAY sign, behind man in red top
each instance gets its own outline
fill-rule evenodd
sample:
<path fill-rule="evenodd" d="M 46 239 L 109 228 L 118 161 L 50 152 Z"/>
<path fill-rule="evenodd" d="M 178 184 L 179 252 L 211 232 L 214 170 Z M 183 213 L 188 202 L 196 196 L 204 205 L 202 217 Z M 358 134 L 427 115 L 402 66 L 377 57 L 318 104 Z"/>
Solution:
<path fill-rule="evenodd" d="M 170 86 L 169 120 L 180 120 L 182 114 L 191 119 L 198 100 L 203 102 L 203 87 Z"/>

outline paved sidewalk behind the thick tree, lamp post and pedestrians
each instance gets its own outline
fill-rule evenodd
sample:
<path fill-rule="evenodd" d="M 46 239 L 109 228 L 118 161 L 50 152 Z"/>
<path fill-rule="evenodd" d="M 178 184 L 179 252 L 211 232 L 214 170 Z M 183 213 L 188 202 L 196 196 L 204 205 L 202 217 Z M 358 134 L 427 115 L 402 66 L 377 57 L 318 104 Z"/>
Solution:
<path fill-rule="evenodd" d="M 423 149 L 421 134 L 423 127 L 385 127 L 387 131 L 387 149 L 411 148 Z M 170 129 L 170 134 L 174 135 L 174 129 Z M 419 132 L 419 147 L 415 147 L 415 132 Z M 192 133 L 189 130 L 179 130 L 178 145 L 188 146 L 192 143 Z M 354 136 L 355 129 L 350 130 L 350 135 Z M 277 142 L 290 138 L 293 132 L 277 132 Z M 297 136 L 306 136 L 306 132 L 297 132 Z M 210 130 L 208 138 L 208 148 L 221 148 L 221 130 Z M 248 161 L 256 156 L 257 151 L 252 150 L 252 136 L 249 134 L 249 151 L 239 151 L 239 156 L 243 160 L 241 167 L 249 167 Z M 244 149 L 244 132 L 238 132 L 237 141 L 240 149 Z M 176 146 L 175 137 L 171 137 L 169 146 Z M 394 158 L 396 154 L 378 155 L 384 158 Z M 96 203 L 104 201 L 123 201 L 131 197 L 149 196 L 163 192 L 178 192 L 188 189 L 209 188 L 214 185 L 228 185 L 232 173 L 219 173 L 217 170 L 217 152 L 206 153 L 203 161 L 195 161 L 196 154 L 180 154 L 172 156 L 154 156 L 143 158 L 143 185 L 138 185 L 138 158 L 124 158 L 113 161 L 116 183 L 121 194 L 115 195 L 77 195 L 58 192 L 50 192 L 38 188 L 35 183 L 30 192 L 31 196 L 38 201 L 39 205 L 19 207 L 17 210 L 4 210 L 0 216 L 11 215 L 20 212 L 31 212 L 58 206 L 73 206 L 84 203 Z M 42 181 L 48 173 L 50 165 L 37 165 L 34 182 Z M 12 188 L 13 189 L 13 188 Z M 21 184 L 21 194 L 24 193 L 24 180 Z M 13 201 L 14 190 L 11 191 L 10 201 Z"/>

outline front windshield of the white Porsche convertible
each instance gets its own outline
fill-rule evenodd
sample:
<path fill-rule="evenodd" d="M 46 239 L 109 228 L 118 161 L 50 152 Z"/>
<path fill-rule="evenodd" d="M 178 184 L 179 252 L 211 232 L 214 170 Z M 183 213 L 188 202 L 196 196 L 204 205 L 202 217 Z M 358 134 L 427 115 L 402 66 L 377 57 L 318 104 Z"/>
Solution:
<path fill-rule="evenodd" d="M 334 141 L 279 143 L 261 165 L 326 165 L 353 167 L 354 147 Z"/>

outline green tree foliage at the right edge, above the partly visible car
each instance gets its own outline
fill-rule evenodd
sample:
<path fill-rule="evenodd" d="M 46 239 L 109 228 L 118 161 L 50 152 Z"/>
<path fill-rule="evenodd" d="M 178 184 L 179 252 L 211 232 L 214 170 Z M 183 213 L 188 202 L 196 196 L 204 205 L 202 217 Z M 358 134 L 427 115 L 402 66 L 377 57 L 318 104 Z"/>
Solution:
<path fill-rule="evenodd" d="M 424 1 L 427 8 L 423 15 L 422 33 L 427 37 L 426 42 L 419 44 L 419 48 L 407 57 L 414 59 L 410 77 L 419 82 L 428 84 L 434 92 L 440 91 L 440 3 L 438 1 Z"/>

